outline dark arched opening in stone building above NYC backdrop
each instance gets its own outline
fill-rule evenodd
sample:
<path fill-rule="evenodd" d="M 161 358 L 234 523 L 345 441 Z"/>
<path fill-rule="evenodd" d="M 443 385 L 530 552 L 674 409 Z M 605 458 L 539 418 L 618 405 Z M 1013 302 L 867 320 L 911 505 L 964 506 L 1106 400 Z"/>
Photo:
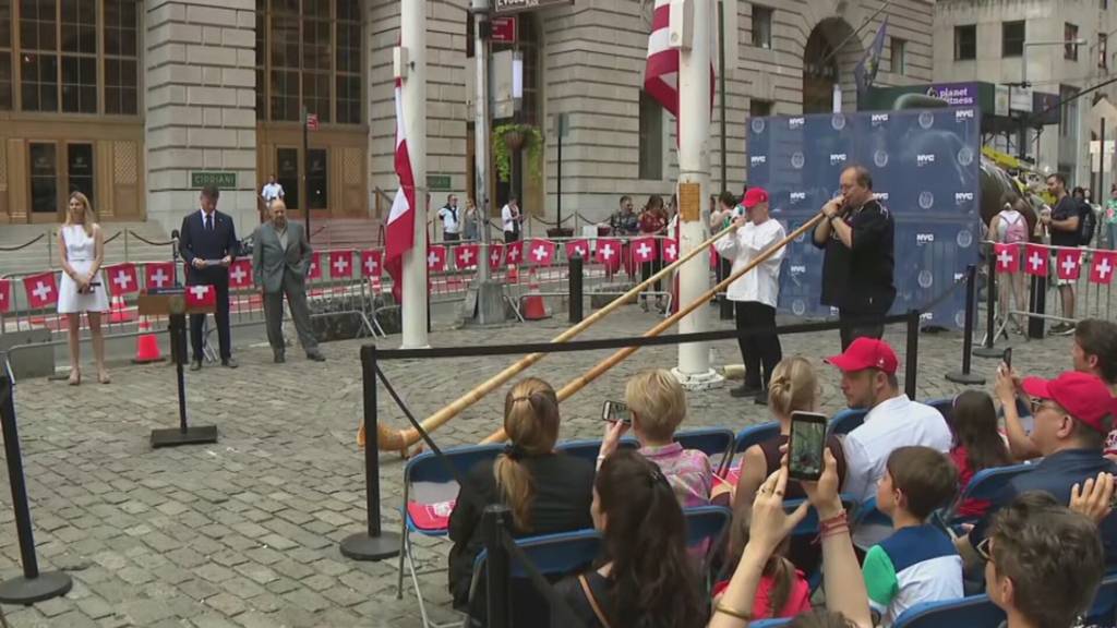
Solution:
<path fill-rule="evenodd" d="M 842 91 L 843 108 L 856 105 L 853 68 L 865 53 L 853 29 L 841 18 L 822 20 L 803 48 L 803 113 L 833 111 L 833 88 Z M 839 48 L 840 46 L 840 48 Z"/>

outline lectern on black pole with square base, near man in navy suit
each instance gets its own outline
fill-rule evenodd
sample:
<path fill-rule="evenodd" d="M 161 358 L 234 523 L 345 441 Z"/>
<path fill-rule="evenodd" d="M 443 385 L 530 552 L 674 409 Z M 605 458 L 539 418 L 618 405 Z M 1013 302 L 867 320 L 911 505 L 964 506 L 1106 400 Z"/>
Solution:
<path fill-rule="evenodd" d="M 187 363 L 187 314 L 210 314 L 212 305 L 188 305 L 185 287 L 144 291 L 140 294 L 141 316 L 168 316 L 171 337 L 171 361 L 179 380 L 179 427 L 151 430 L 151 446 L 176 447 L 179 445 L 201 445 L 217 443 L 217 426 L 187 425 L 187 384 L 182 367 Z"/>

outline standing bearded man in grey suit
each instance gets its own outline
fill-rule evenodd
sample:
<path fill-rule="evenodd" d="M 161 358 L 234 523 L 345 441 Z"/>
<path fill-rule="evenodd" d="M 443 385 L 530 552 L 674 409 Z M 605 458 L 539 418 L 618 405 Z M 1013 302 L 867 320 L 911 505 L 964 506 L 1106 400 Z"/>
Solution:
<path fill-rule="evenodd" d="M 271 221 L 257 227 L 252 236 L 252 275 L 256 287 L 264 292 L 268 343 L 276 363 L 285 362 L 281 325 L 283 295 L 286 294 L 298 342 L 307 359 L 324 362 L 326 359 L 318 351 L 318 341 L 311 330 L 311 308 L 306 304 L 306 273 L 311 268 L 306 228 L 287 221 L 287 206 L 283 199 L 273 200 L 269 212 Z"/>

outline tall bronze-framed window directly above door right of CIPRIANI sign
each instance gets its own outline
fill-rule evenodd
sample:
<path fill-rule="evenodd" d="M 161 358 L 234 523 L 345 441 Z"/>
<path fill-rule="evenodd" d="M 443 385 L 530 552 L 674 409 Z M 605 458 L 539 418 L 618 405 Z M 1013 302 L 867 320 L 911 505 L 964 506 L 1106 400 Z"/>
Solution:
<path fill-rule="evenodd" d="M 256 115 L 361 124 L 361 0 L 257 0 Z M 292 194 L 288 193 L 288 197 Z"/>

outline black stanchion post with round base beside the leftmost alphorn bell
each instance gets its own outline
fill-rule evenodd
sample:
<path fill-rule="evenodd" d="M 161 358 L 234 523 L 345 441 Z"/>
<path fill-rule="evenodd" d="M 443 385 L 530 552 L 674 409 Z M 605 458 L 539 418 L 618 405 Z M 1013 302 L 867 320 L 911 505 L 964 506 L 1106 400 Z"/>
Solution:
<path fill-rule="evenodd" d="M 400 535 L 380 529 L 380 446 L 376 443 L 376 345 L 361 348 L 361 380 L 364 390 L 364 496 L 369 530 L 342 541 L 342 554 L 359 561 L 376 561 L 398 555 Z"/>

